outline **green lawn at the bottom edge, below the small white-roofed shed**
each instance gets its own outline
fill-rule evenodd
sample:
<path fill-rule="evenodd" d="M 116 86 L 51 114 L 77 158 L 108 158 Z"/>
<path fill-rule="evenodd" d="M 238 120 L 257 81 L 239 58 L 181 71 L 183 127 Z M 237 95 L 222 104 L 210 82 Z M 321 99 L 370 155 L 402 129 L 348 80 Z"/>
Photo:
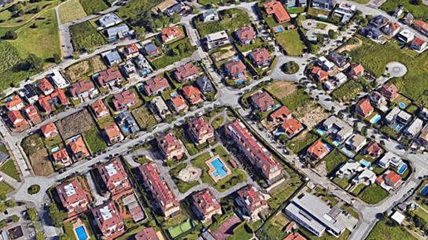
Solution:
<path fill-rule="evenodd" d="M 402 226 L 391 227 L 385 220 L 376 223 L 366 240 L 416 240 Z"/>

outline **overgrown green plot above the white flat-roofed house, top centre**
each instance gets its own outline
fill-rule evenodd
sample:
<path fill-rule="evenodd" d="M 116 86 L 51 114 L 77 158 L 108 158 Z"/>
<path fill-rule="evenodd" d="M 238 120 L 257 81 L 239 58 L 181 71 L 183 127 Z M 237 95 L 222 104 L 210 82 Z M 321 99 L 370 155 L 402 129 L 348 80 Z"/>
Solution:
<path fill-rule="evenodd" d="M 196 20 L 196 29 L 198 30 L 201 37 L 219 32 L 222 30 L 228 30 L 230 32 L 235 31 L 237 28 L 244 25 L 250 24 L 250 17 L 247 12 L 240 9 L 228 9 L 220 11 L 219 13 L 220 21 L 204 23 L 197 18 Z"/>

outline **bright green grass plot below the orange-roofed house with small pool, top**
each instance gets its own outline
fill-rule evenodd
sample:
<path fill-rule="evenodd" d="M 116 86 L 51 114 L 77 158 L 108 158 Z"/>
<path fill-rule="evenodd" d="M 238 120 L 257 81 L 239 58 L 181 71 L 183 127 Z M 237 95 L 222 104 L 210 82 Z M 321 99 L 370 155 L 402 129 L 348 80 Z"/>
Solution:
<path fill-rule="evenodd" d="M 290 56 L 300 56 L 306 48 L 296 29 L 277 33 L 275 38 L 287 55 Z"/>

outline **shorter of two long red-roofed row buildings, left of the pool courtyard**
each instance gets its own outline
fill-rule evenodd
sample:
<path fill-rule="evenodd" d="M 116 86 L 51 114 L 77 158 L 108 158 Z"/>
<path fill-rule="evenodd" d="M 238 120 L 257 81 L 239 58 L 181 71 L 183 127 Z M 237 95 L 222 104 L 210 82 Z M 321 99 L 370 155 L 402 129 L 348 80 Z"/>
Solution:
<path fill-rule="evenodd" d="M 155 200 L 153 205 L 161 211 L 163 216 L 173 217 L 179 214 L 180 203 L 171 187 L 163 179 L 158 166 L 154 162 L 150 162 L 139 166 L 138 169 L 145 187 L 152 193 Z"/>

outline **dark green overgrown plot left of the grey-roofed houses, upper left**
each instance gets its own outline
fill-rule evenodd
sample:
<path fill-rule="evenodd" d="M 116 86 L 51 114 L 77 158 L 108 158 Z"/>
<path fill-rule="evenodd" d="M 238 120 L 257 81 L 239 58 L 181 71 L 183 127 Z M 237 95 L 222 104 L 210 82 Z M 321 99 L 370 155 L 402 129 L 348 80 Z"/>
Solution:
<path fill-rule="evenodd" d="M 106 40 L 87 21 L 70 27 L 71 42 L 77 51 L 91 51 L 106 43 Z"/>

